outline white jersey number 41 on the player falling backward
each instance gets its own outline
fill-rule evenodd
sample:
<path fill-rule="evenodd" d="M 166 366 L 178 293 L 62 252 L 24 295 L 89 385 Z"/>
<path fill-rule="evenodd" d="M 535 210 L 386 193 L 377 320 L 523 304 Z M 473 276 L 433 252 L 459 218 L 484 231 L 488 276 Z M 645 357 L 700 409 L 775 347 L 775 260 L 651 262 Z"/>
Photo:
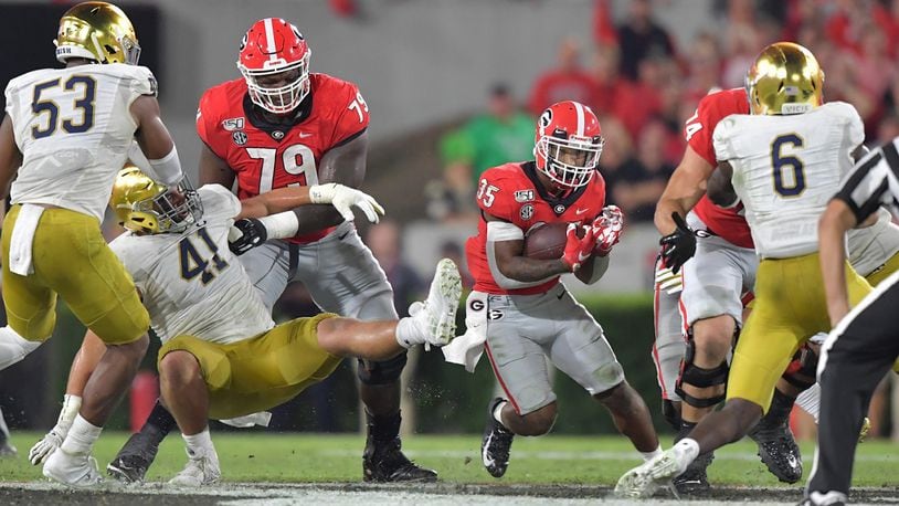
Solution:
<path fill-rule="evenodd" d="M 195 226 L 177 234 L 126 232 L 109 244 L 134 277 L 154 331 L 162 342 L 190 335 L 230 344 L 271 329 L 271 313 L 228 249 L 240 201 L 220 185 L 198 192 L 203 218 Z"/>

